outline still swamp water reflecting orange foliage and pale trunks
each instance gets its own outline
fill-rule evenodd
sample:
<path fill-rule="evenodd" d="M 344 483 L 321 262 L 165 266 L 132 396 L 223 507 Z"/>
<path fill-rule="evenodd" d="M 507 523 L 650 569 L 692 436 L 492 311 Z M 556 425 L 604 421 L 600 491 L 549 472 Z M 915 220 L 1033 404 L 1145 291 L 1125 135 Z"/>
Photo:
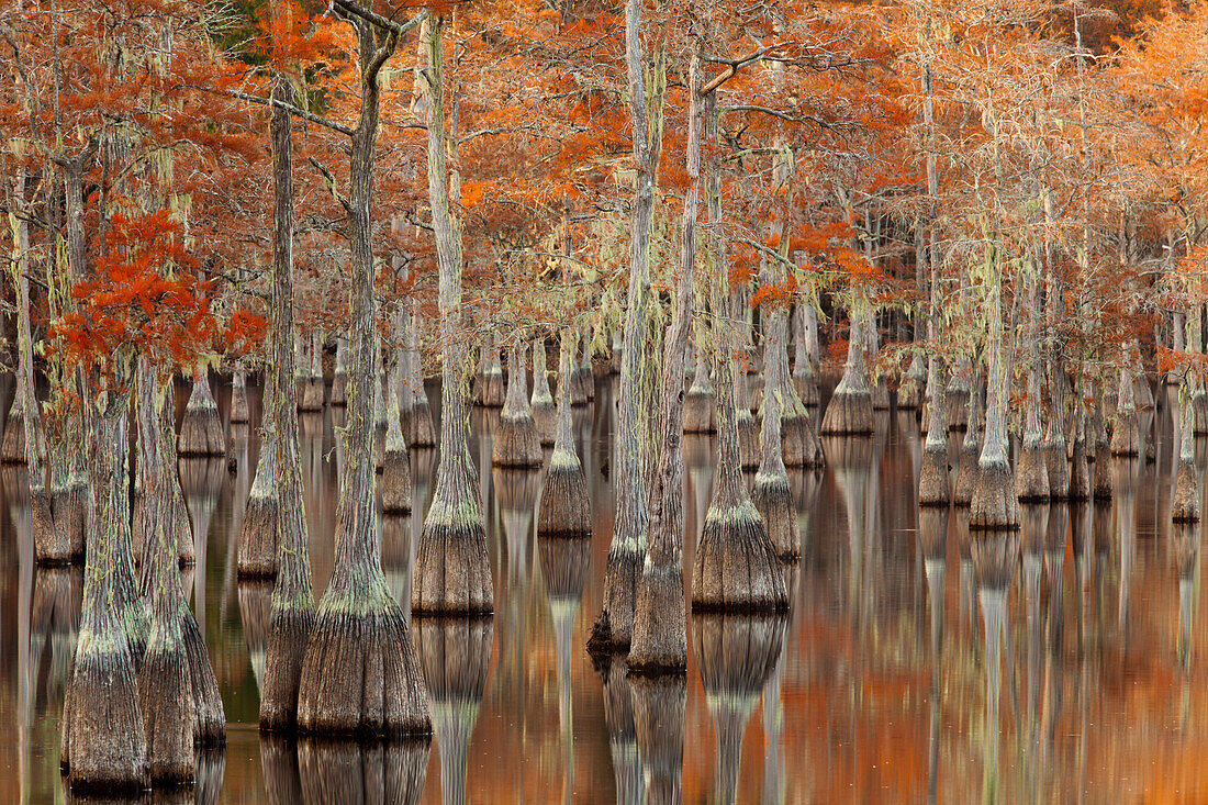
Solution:
<path fill-rule="evenodd" d="M 412 622 L 432 696 L 431 746 L 260 737 L 271 585 L 236 575 L 259 456 L 256 430 L 238 425 L 236 475 L 221 461 L 181 463 L 198 533 L 197 567 L 182 583 L 231 722 L 226 752 L 199 760 L 198 787 L 184 799 L 1208 798 L 1200 529 L 1169 525 L 1172 395 L 1140 423 L 1160 435 L 1156 463 L 1113 461 L 1110 503 L 1024 508 L 1001 584 L 987 571 L 999 546 L 975 544 L 965 512 L 917 508 L 913 416 L 881 413 L 873 439 L 826 441 L 824 471 L 792 474 L 802 558 L 789 575 L 791 610 L 691 620 L 686 678 L 657 682 L 628 679 L 623 661 L 593 665 L 583 650 L 614 519 L 611 383 L 598 382 L 594 405 L 575 412 L 593 494 L 590 542 L 536 539 L 541 475 L 490 470 L 498 413 L 475 411 L 496 612 Z M 226 396 L 220 387 L 223 411 Z M 333 558 L 341 416 L 301 423 L 316 595 Z M 1208 445 L 1200 447 L 1202 471 Z M 685 439 L 689 572 L 715 451 L 713 439 Z M 412 456 L 417 514 L 382 521 L 382 564 L 401 602 L 436 458 Z M 58 723 L 81 571 L 35 568 L 24 470 L 2 468 L 0 483 L 0 801 L 59 801 Z"/>

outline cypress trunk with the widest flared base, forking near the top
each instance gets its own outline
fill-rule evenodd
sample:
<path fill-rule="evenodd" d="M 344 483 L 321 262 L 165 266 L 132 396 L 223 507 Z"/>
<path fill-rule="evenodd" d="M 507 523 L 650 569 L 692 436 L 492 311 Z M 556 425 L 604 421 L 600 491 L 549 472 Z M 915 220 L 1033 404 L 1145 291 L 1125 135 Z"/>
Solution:
<path fill-rule="evenodd" d="M 381 348 L 373 296 L 371 203 L 381 104 L 379 71 L 397 35 L 349 16 L 358 37 L 360 120 L 352 137 L 348 213 L 352 251 L 349 372 L 336 557 L 315 613 L 298 679 L 297 725 L 320 735 L 429 735 L 431 717 L 407 620 L 382 573 L 374 399 Z"/>

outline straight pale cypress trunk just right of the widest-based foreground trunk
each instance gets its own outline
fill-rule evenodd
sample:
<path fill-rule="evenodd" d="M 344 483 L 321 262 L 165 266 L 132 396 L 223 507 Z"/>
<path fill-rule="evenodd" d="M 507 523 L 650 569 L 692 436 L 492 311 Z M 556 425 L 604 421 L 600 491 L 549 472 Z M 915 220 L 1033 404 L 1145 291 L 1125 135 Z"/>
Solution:
<path fill-rule="evenodd" d="M 449 175 L 446 163 L 442 29 L 443 19 L 431 17 L 420 36 L 425 62 L 420 93 L 426 104 L 428 197 L 440 268 L 441 459 L 436 491 L 419 535 L 411 608 L 416 613 L 489 613 L 494 609 L 494 585 L 475 491 L 477 473 L 466 442 L 461 227 L 453 213 L 460 190 L 457 175 Z"/>

